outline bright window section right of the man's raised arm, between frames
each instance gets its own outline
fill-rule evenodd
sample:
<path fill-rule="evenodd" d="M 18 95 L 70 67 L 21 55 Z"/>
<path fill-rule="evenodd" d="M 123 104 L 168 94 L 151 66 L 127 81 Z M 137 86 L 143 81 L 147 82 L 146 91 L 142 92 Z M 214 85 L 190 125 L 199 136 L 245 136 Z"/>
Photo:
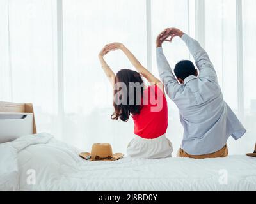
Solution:
<path fill-rule="evenodd" d="M 236 1 L 205 0 L 205 50 L 225 101 L 237 113 Z"/>

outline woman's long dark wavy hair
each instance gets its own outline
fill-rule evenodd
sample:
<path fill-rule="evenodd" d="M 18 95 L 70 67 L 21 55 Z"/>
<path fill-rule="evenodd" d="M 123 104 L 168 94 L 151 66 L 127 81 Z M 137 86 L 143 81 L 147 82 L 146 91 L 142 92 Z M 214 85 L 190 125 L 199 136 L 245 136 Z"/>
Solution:
<path fill-rule="evenodd" d="M 126 85 L 127 90 L 123 92 L 122 94 L 126 95 L 126 103 L 116 105 L 115 103 L 115 97 L 118 95 L 117 92 L 124 91 L 123 89 L 114 90 L 114 113 L 111 115 L 111 119 L 113 120 L 122 120 L 124 122 L 127 122 L 130 115 L 136 115 L 140 114 L 140 110 L 142 108 L 141 105 L 141 98 L 143 98 L 143 80 L 141 78 L 140 73 L 136 71 L 132 71 L 130 69 L 121 69 L 116 73 L 115 77 L 115 84 L 118 82 L 122 82 Z M 136 91 L 136 87 L 129 87 L 129 83 L 133 82 L 137 85 L 140 85 L 140 92 Z M 132 90 L 129 90 L 132 89 Z M 129 99 L 129 93 L 133 93 L 133 99 Z M 131 96 L 131 95 L 130 95 Z M 132 100 L 132 101 L 131 101 Z M 140 104 L 136 103 L 136 101 L 140 101 Z M 129 103 L 130 102 L 130 103 Z"/>

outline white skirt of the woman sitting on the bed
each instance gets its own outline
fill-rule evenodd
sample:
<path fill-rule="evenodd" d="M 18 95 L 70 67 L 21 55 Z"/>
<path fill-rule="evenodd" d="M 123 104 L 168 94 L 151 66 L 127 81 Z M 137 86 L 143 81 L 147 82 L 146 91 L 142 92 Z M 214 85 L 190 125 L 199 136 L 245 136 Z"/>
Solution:
<path fill-rule="evenodd" d="M 166 138 L 165 134 L 155 139 L 145 139 L 136 136 L 127 147 L 129 157 L 143 159 L 172 157 L 172 151 L 172 142 Z"/>

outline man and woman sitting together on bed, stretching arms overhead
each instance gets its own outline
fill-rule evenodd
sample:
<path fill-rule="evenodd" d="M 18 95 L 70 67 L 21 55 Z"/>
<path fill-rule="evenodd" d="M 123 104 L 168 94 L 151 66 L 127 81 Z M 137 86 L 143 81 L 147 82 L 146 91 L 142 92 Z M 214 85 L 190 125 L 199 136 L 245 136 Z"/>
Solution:
<path fill-rule="evenodd" d="M 175 36 L 179 36 L 188 46 L 199 73 L 191 61 L 184 60 L 176 64 L 176 77 L 173 75 L 162 44 L 164 41 L 171 42 Z M 121 69 L 115 75 L 104 61 L 104 55 L 114 50 L 122 50 L 138 72 Z M 108 44 L 99 54 L 102 69 L 114 89 L 115 112 L 111 119 L 127 121 L 131 116 L 134 120 L 136 137 L 129 143 L 127 154 L 147 159 L 172 157 L 173 146 L 166 138 L 166 91 L 179 108 L 180 122 L 184 127 L 177 156 L 194 159 L 226 157 L 228 137 L 231 135 L 237 140 L 246 130 L 223 100 L 216 71 L 205 50 L 187 34 L 170 28 L 157 36 L 156 57 L 161 81 L 121 43 Z M 151 85 L 145 86 L 141 76 Z"/>

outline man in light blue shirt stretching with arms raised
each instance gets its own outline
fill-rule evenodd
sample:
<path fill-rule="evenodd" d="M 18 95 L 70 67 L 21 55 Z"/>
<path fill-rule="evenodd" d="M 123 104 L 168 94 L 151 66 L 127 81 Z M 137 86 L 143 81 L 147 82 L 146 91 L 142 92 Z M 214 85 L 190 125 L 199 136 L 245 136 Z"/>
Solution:
<path fill-rule="evenodd" d="M 176 77 L 163 54 L 162 43 L 179 36 L 195 59 L 198 71 L 191 61 L 180 61 L 174 69 Z M 169 40 L 170 38 L 170 40 Z M 157 67 L 166 93 L 177 105 L 184 135 L 178 156 L 225 157 L 227 140 L 235 140 L 246 132 L 243 125 L 223 100 L 214 66 L 198 41 L 179 29 L 166 29 L 156 40 Z M 225 150 L 225 154 L 214 154 Z"/>

